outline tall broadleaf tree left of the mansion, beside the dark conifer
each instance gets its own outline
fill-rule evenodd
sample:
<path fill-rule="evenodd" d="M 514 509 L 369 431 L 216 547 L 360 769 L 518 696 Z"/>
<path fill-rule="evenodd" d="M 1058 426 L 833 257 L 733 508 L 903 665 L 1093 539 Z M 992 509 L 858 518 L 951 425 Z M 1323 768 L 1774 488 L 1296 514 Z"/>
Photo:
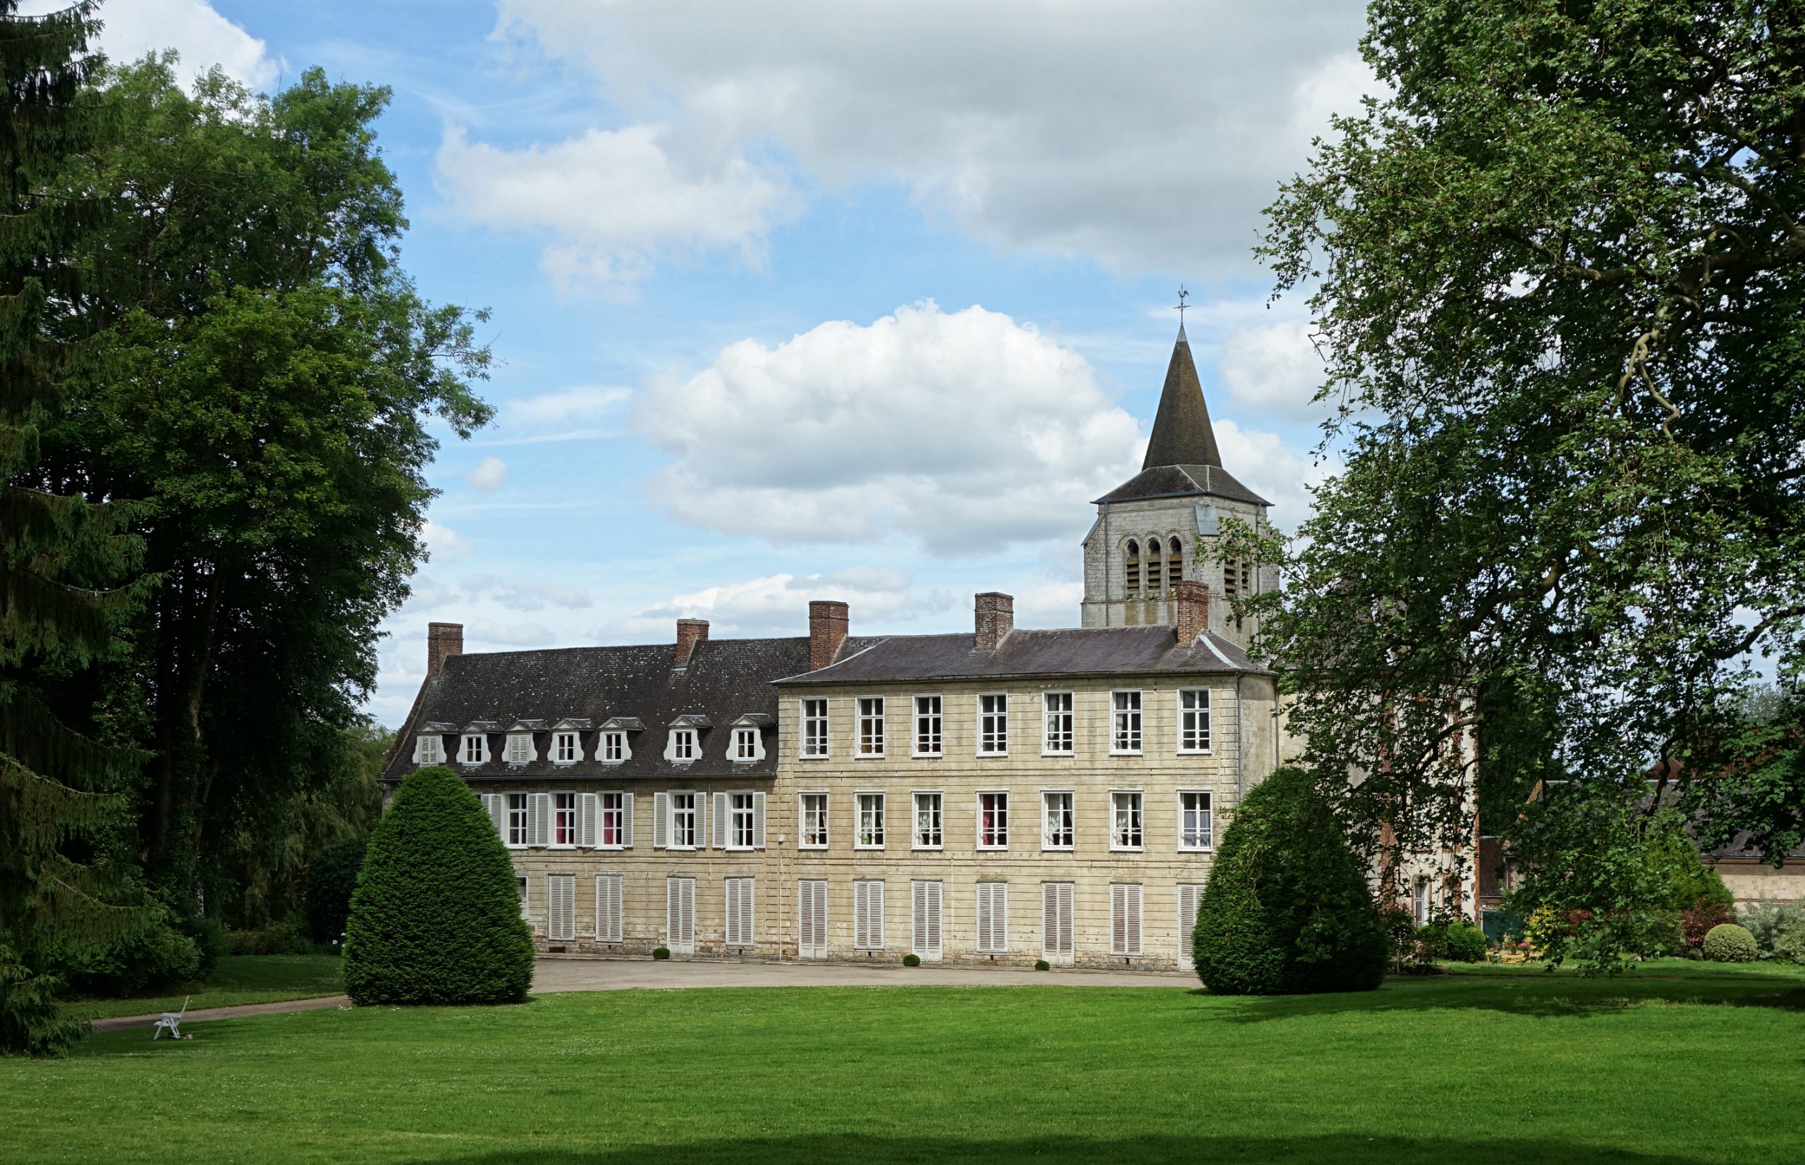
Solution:
<path fill-rule="evenodd" d="M 99 81 L 123 132 L 63 180 L 125 207 L 85 251 L 110 375 L 81 384 L 54 463 L 143 500 L 159 588 L 114 693 L 153 750 L 150 876 L 258 925 L 336 840 L 300 819 L 341 784 L 379 624 L 424 557 L 428 420 L 487 420 L 489 353 L 399 263 L 388 90 L 309 70 L 271 99 L 218 72 L 186 94 L 166 58 Z"/>

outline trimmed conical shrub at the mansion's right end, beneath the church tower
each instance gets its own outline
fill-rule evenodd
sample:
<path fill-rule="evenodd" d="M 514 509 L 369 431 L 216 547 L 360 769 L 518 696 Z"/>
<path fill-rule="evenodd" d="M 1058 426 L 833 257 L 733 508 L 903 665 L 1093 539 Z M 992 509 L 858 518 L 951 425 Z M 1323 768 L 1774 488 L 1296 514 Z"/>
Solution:
<path fill-rule="evenodd" d="M 1309 774 L 1280 768 L 1240 803 L 1191 941 L 1217 995 L 1361 992 L 1384 979 L 1366 873 Z"/>

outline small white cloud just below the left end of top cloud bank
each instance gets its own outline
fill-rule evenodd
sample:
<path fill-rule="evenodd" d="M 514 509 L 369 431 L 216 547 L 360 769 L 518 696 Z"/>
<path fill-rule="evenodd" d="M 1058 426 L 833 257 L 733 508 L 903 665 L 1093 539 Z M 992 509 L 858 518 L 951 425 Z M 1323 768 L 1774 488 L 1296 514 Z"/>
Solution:
<path fill-rule="evenodd" d="M 659 260 L 731 252 L 764 260 L 765 234 L 796 209 L 789 184 L 729 153 L 686 166 L 650 124 L 588 130 L 504 150 L 448 126 L 439 182 L 462 216 L 552 236 L 540 265 L 563 287 L 632 285 Z"/>

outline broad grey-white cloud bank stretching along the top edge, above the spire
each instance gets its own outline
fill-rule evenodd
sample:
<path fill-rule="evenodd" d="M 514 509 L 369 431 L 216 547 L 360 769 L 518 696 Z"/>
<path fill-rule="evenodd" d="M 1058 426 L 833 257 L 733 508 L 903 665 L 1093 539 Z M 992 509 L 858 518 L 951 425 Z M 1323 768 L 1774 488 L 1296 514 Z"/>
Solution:
<path fill-rule="evenodd" d="M 1193 278 L 1247 269 L 1276 184 L 1372 87 L 1363 7 L 1319 0 L 496 7 L 498 40 L 587 67 L 700 173 L 776 146 L 800 184 L 901 180 L 1002 245 Z"/>

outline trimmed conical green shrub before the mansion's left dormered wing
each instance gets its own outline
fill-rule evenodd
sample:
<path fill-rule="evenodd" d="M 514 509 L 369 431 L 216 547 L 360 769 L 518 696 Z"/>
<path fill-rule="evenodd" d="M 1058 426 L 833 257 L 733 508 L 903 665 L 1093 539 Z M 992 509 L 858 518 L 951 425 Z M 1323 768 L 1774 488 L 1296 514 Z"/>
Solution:
<path fill-rule="evenodd" d="M 449 768 L 421 768 L 370 835 L 345 925 L 356 1003 L 520 1003 L 532 932 L 514 864 Z"/>

